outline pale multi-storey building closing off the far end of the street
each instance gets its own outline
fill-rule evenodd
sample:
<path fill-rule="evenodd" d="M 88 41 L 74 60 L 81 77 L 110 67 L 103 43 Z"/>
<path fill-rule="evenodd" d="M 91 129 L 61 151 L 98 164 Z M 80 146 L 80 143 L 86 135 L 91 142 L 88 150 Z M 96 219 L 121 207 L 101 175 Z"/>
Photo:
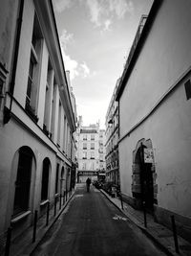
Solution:
<path fill-rule="evenodd" d="M 105 173 L 105 130 L 99 124 L 82 126 L 79 117 L 77 128 L 77 181 L 85 182 L 88 177 L 97 180 L 99 173 Z"/>

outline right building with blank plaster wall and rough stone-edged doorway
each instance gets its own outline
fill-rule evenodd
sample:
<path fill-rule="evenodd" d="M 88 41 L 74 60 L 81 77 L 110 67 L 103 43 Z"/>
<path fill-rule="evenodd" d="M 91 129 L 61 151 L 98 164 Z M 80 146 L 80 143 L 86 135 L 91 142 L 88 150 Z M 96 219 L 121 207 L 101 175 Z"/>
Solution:
<path fill-rule="evenodd" d="M 154 1 L 117 90 L 123 198 L 191 230 L 191 2 Z M 141 25 L 141 24 L 140 24 Z"/>

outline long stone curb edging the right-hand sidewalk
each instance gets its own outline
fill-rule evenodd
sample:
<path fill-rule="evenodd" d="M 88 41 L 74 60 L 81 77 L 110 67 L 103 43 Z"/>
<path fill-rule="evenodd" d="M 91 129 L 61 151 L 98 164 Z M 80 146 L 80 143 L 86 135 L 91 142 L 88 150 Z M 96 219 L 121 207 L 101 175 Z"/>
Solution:
<path fill-rule="evenodd" d="M 127 216 L 125 214 L 125 211 L 122 210 L 113 200 L 112 198 L 110 198 L 105 191 L 103 191 L 102 189 L 99 190 L 106 198 L 108 198 L 116 207 L 117 209 L 122 212 L 127 218 L 128 220 L 132 221 L 134 224 L 136 224 L 138 226 L 138 228 L 142 231 L 142 233 L 144 233 L 149 239 L 153 240 L 153 242 L 155 244 L 157 244 L 159 246 L 159 248 L 166 253 L 168 256 L 175 256 L 176 254 L 172 253 L 171 251 L 169 251 L 168 248 L 166 248 L 166 246 L 164 246 L 163 244 L 159 243 L 159 240 L 156 239 L 146 228 L 142 227 L 141 225 L 139 225 L 138 223 L 136 223 L 135 221 L 133 221 L 132 219 L 130 219 L 129 216 Z"/>

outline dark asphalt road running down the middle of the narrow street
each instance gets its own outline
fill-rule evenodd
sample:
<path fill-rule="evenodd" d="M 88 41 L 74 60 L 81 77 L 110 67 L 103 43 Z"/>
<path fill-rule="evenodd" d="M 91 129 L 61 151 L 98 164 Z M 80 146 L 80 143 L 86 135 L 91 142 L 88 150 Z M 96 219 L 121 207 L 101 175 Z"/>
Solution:
<path fill-rule="evenodd" d="M 81 184 L 32 256 L 165 255 L 94 187 Z"/>

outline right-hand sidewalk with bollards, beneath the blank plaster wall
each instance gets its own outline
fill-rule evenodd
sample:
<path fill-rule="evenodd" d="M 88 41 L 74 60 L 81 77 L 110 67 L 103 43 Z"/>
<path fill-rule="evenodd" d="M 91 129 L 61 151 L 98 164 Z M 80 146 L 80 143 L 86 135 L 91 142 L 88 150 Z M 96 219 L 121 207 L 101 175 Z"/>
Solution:
<path fill-rule="evenodd" d="M 178 237 L 178 243 L 180 248 L 180 253 L 176 252 L 175 242 L 173 237 L 173 232 L 167 227 L 154 221 L 154 218 L 146 214 L 147 227 L 144 227 L 144 216 L 143 212 L 138 211 L 131 207 L 128 203 L 123 202 L 123 210 L 121 209 L 121 201 L 119 198 L 110 197 L 105 191 L 100 190 L 105 197 L 107 197 L 111 202 L 113 202 L 117 208 L 123 212 L 128 219 L 133 221 L 138 225 L 138 227 L 144 232 L 149 238 L 151 238 L 155 243 L 157 243 L 160 248 L 167 253 L 167 255 L 173 256 L 191 256 L 191 244 Z"/>

